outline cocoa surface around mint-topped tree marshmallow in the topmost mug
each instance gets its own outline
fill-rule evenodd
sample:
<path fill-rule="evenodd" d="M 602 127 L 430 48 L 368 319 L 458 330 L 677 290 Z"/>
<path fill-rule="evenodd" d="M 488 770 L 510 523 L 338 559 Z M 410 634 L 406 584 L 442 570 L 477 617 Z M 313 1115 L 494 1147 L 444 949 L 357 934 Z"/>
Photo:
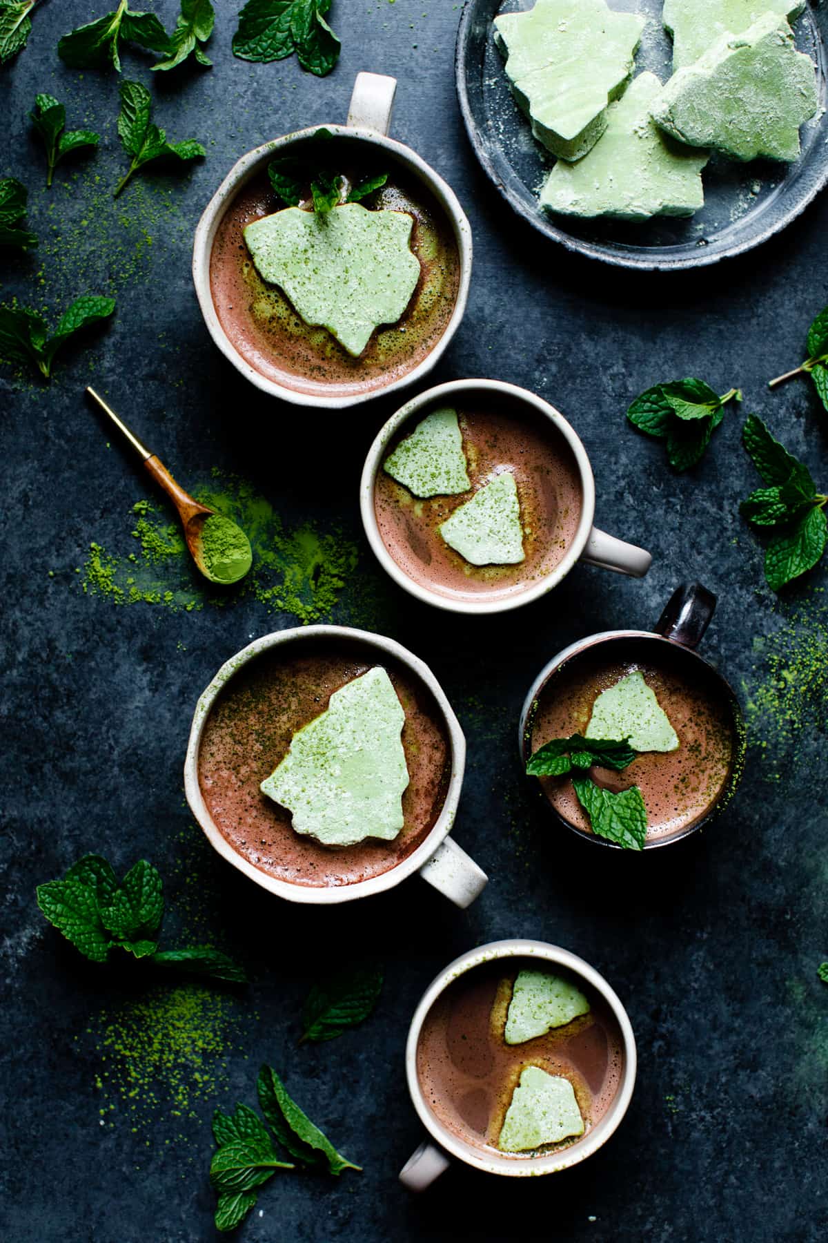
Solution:
<path fill-rule="evenodd" d="M 341 160 L 334 163 L 349 183 L 377 172 L 375 165 L 367 167 L 359 144 L 339 138 L 335 143 Z M 331 145 L 324 144 L 328 162 Z M 307 324 L 278 286 L 268 285 L 256 271 L 243 230 L 284 206 L 264 170 L 242 186 L 218 225 L 210 256 L 210 291 L 218 321 L 251 367 L 298 393 L 367 394 L 401 379 L 433 349 L 454 311 L 459 255 L 451 221 L 413 174 L 386 152 L 376 152 L 376 159 L 389 172 L 389 181 L 364 206 L 406 211 L 413 218 L 410 245 L 420 260 L 421 276 L 402 318 L 377 328 L 359 358 L 326 328 Z"/>

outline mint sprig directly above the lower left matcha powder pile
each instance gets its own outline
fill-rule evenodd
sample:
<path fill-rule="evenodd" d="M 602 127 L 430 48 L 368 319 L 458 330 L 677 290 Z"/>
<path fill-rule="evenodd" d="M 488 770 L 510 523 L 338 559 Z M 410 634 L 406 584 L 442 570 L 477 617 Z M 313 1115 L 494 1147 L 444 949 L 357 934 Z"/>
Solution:
<path fill-rule="evenodd" d="M 58 932 L 92 962 L 108 962 L 110 950 L 146 958 L 153 967 L 179 975 L 243 983 L 245 972 L 227 955 L 207 946 L 159 950 L 164 919 L 161 876 L 139 859 L 118 880 L 103 855 L 78 859 L 62 880 L 37 886 L 37 905 Z"/>

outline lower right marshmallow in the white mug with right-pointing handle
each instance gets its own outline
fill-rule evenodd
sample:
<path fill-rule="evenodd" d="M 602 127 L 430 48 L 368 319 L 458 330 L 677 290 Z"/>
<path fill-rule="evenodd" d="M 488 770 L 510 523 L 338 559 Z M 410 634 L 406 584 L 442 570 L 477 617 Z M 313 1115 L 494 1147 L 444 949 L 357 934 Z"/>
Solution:
<path fill-rule="evenodd" d="M 514 475 L 502 471 L 459 505 L 439 533 L 472 566 L 515 566 L 524 559 Z"/>

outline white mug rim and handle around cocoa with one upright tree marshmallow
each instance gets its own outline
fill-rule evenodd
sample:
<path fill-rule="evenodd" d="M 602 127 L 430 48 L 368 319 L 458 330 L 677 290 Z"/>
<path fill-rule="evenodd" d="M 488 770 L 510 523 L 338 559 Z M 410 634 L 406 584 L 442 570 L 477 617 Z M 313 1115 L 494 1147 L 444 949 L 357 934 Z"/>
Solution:
<path fill-rule="evenodd" d="M 269 651 L 273 648 L 287 645 L 307 648 L 320 641 L 329 643 L 331 640 L 358 641 L 362 646 L 376 651 L 377 664 L 382 664 L 384 658 L 390 656 L 416 675 L 431 691 L 442 713 L 451 745 L 452 771 L 446 791 L 446 800 L 427 838 L 394 868 L 381 873 L 379 876 L 359 880 L 350 885 L 293 885 L 277 876 L 271 876 L 252 863 L 248 863 L 247 859 L 243 859 L 233 850 L 227 839 L 221 834 L 210 815 L 201 793 L 199 783 L 199 747 L 205 722 L 217 695 L 248 661 L 254 660 L 263 651 Z M 204 829 L 210 845 L 218 851 L 222 859 L 231 863 L 233 868 L 238 868 L 240 871 L 251 880 L 254 880 L 262 889 L 267 889 L 279 897 L 287 897 L 288 901 L 312 904 L 346 902 L 356 897 L 367 897 L 370 894 L 380 894 L 394 885 L 398 885 L 401 880 L 411 876 L 412 873 L 418 871 L 423 880 L 427 880 L 434 889 L 438 889 L 441 894 L 444 894 L 457 906 L 464 907 L 474 901 L 488 880 L 485 873 L 478 868 L 474 860 L 448 837 L 454 823 L 464 768 L 466 738 L 459 721 L 454 716 L 439 682 L 422 660 L 401 644 L 395 643 L 394 639 L 369 634 L 366 630 L 353 630 L 349 626 L 336 625 L 309 625 L 298 626 L 293 630 L 277 630 L 274 634 L 267 634 L 261 639 L 256 639 L 221 666 L 196 705 L 184 763 L 184 789 L 190 810 Z"/>

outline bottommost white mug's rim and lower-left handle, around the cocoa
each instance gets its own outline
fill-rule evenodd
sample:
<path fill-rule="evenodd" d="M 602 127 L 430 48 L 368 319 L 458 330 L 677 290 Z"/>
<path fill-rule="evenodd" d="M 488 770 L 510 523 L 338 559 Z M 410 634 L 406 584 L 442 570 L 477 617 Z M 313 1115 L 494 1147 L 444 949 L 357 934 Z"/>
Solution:
<path fill-rule="evenodd" d="M 484 1151 L 467 1144 L 459 1136 L 452 1134 L 436 1117 L 420 1085 L 420 1076 L 417 1074 L 417 1043 L 426 1016 L 441 993 L 458 976 L 462 976 L 467 971 L 473 971 L 482 963 L 493 962 L 497 958 L 535 958 L 539 962 L 549 962 L 552 966 L 565 967 L 574 976 L 580 976 L 596 993 L 600 993 L 612 1011 L 621 1030 L 623 1066 L 618 1090 L 612 1104 L 597 1125 L 591 1127 L 581 1139 L 575 1140 L 569 1147 L 559 1149 L 544 1156 L 521 1158 L 499 1156 L 495 1152 Z M 627 1011 L 621 1004 L 618 994 L 610 987 L 603 976 L 600 976 L 595 967 L 591 967 L 583 958 L 578 958 L 577 955 L 570 953 L 569 950 L 561 950 L 556 945 L 546 945 L 545 941 L 492 941 L 478 950 L 472 950 L 469 953 L 456 958 L 454 962 L 449 962 L 446 970 L 431 982 L 411 1021 L 406 1044 L 408 1091 L 411 1093 L 411 1100 L 420 1115 L 421 1122 L 436 1144 L 426 1140 L 420 1145 L 400 1171 L 400 1181 L 410 1191 L 425 1191 L 434 1178 L 448 1168 L 452 1157 L 464 1161 L 477 1170 L 483 1170 L 485 1173 L 500 1173 L 518 1178 L 555 1173 L 557 1170 L 566 1170 L 569 1166 L 577 1165 L 596 1152 L 602 1144 L 606 1144 L 627 1112 L 636 1083 L 636 1038 L 629 1018 L 627 1017 Z"/>

